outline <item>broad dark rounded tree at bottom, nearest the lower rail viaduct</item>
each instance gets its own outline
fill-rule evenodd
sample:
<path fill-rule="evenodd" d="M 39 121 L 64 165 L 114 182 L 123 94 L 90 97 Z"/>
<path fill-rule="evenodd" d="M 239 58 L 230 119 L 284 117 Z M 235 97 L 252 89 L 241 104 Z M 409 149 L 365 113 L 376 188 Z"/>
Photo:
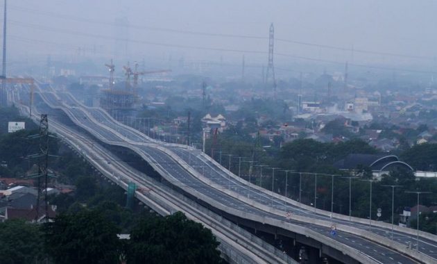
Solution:
<path fill-rule="evenodd" d="M 143 220 L 130 235 L 128 263 L 221 263 L 219 242 L 183 213 Z"/>

